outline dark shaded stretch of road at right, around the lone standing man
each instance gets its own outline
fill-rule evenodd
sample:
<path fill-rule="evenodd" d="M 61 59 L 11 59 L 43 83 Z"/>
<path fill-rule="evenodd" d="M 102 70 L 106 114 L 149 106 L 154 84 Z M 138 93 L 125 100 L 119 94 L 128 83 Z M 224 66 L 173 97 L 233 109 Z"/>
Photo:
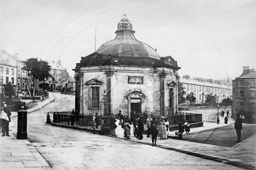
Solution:
<path fill-rule="evenodd" d="M 255 127 L 256 125 L 243 124 L 242 141 L 256 134 Z M 212 144 L 226 147 L 232 147 L 237 144 L 235 143 L 236 139 L 237 135 L 234 125 L 183 135 L 184 141 L 192 141 L 195 143 Z"/>

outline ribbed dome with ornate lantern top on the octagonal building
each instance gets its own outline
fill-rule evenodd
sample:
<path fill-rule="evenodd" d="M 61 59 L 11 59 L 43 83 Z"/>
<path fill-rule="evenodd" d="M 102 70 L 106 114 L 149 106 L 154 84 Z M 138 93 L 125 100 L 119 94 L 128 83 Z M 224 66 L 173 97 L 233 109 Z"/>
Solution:
<path fill-rule="evenodd" d="M 157 52 L 146 43 L 137 40 L 134 33 L 132 23 L 124 13 L 123 19 L 117 24 L 115 39 L 101 45 L 96 52 L 107 56 L 160 59 Z"/>

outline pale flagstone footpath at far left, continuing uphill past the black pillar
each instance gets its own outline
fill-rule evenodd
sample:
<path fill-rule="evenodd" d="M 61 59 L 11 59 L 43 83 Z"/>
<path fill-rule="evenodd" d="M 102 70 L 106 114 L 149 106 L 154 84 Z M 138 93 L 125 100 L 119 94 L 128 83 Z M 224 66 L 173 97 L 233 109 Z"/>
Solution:
<path fill-rule="evenodd" d="M 53 102 L 54 97 L 40 102 L 35 107 L 28 109 L 28 113 L 42 109 L 45 105 Z M 17 112 L 12 112 L 12 117 L 17 116 Z M 28 139 L 17 139 L 17 129 L 10 127 L 10 137 L 0 137 L 0 167 L 4 170 L 48 170 L 49 164 L 38 153 Z"/>

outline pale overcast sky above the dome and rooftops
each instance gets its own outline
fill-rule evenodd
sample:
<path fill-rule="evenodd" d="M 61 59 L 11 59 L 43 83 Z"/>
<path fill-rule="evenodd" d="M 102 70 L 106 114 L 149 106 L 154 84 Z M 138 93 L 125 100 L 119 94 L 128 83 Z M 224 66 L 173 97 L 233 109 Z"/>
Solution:
<path fill-rule="evenodd" d="M 137 40 L 178 61 L 181 77 L 235 79 L 243 66 L 256 68 L 255 9 L 255 0 L 1 0 L 0 50 L 62 60 L 73 75 L 94 52 L 95 30 L 97 50 L 125 12 Z"/>

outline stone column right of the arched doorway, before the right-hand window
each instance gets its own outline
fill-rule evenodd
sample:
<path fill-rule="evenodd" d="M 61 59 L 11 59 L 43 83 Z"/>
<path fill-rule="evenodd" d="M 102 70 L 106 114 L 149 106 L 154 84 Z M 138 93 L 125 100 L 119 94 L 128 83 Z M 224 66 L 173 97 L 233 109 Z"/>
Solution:
<path fill-rule="evenodd" d="M 167 73 L 164 72 L 164 70 L 158 74 L 160 77 L 160 115 L 164 115 L 165 113 L 165 89 L 166 89 L 166 75 Z"/>

